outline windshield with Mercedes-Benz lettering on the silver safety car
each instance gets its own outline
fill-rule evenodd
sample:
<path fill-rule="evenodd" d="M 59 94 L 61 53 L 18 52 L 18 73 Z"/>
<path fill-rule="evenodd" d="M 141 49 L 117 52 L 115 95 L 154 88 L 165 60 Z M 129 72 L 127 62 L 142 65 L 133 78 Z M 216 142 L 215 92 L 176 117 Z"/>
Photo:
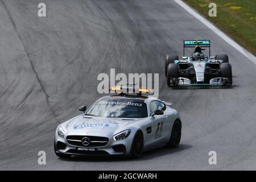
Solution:
<path fill-rule="evenodd" d="M 147 117 L 147 104 L 138 99 L 100 100 L 92 105 L 86 115 L 114 118 Z"/>

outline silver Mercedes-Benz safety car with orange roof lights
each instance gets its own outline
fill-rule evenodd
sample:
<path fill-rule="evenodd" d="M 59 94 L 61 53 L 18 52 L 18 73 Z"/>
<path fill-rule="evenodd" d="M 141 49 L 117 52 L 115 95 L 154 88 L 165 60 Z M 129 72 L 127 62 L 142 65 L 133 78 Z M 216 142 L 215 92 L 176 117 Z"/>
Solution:
<path fill-rule="evenodd" d="M 127 88 L 114 87 L 111 90 Z M 149 89 L 138 88 L 144 92 Z M 171 104 L 137 94 L 113 94 L 94 102 L 83 114 L 61 123 L 54 150 L 60 158 L 71 155 L 125 155 L 138 158 L 143 151 L 163 145 L 178 147 L 181 120 Z"/>

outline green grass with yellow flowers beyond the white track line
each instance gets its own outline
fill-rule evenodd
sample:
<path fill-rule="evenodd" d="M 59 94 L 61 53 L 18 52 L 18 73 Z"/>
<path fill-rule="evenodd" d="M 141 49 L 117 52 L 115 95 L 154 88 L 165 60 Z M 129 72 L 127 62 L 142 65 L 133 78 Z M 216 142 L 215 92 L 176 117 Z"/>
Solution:
<path fill-rule="evenodd" d="M 183 0 L 205 18 L 216 24 L 236 42 L 256 55 L 256 1 L 255 0 Z M 217 5 L 217 16 L 210 17 L 209 3 Z"/>

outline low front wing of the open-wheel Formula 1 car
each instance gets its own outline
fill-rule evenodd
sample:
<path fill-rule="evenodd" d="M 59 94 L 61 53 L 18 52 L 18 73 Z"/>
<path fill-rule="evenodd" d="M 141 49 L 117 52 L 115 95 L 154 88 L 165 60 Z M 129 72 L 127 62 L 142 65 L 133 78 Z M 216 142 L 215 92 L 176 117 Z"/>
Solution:
<path fill-rule="evenodd" d="M 209 84 L 204 84 L 204 82 L 197 82 L 197 84 L 193 84 L 191 80 L 189 80 L 188 78 L 179 77 L 179 78 L 172 78 L 170 80 L 170 84 L 171 86 L 230 86 L 231 85 L 228 78 L 224 78 L 224 77 L 212 78 L 209 81 Z"/>

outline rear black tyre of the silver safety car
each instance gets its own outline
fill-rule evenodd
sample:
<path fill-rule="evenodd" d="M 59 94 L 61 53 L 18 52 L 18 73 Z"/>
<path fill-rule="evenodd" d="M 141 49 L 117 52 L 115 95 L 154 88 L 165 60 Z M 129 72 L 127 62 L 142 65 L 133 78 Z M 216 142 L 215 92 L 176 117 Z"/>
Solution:
<path fill-rule="evenodd" d="M 181 138 L 181 123 L 179 120 L 176 120 L 174 122 L 174 125 L 172 126 L 171 138 L 167 143 L 167 146 L 171 148 L 178 147 L 180 144 L 180 138 Z"/>

